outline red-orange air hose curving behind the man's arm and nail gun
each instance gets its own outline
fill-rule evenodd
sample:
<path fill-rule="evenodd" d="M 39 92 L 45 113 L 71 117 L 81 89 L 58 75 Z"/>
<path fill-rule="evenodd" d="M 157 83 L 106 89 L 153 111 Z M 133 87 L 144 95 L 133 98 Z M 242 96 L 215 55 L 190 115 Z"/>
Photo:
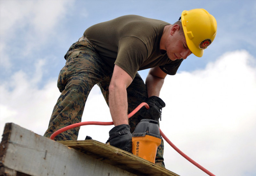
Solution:
<path fill-rule="evenodd" d="M 141 103 L 139 106 L 137 106 L 130 114 L 128 114 L 128 119 L 130 117 L 132 117 L 135 113 L 137 113 L 141 107 L 145 106 L 147 109 L 149 109 L 149 106 L 147 103 L 143 102 Z M 80 127 L 80 126 L 84 126 L 84 125 L 114 125 L 113 121 L 110 122 L 101 122 L 101 121 L 84 121 L 84 122 L 79 122 L 79 123 L 75 123 L 72 125 L 68 125 L 67 127 L 64 128 L 60 128 L 59 130 L 55 131 L 50 139 L 54 139 L 55 136 L 57 136 L 58 134 L 67 131 L 68 129 L 71 128 L 76 128 L 76 127 Z M 193 165 L 195 165 L 196 167 L 198 167 L 199 169 L 201 169 L 202 171 L 204 171 L 205 173 L 207 173 L 210 176 L 215 176 L 212 172 L 208 171 L 207 169 L 205 169 L 203 166 L 199 165 L 198 163 L 196 163 L 196 161 L 194 161 L 193 159 L 189 158 L 185 153 L 183 153 L 180 149 L 178 149 L 162 132 L 162 130 L 159 128 L 160 130 L 160 134 L 161 136 L 164 138 L 164 140 L 169 143 L 171 145 L 171 147 L 176 150 L 181 156 L 183 156 L 184 158 L 186 158 L 189 162 L 191 162 Z"/>

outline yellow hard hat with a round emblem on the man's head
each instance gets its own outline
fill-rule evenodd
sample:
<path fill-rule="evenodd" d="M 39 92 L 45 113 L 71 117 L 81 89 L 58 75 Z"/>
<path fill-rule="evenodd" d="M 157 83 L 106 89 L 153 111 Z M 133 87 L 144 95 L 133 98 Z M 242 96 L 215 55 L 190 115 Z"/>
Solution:
<path fill-rule="evenodd" d="M 216 36 L 216 19 L 204 9 L 192 9 L 181 13 L 181 24 L 188 48 L 197 57 L 202 57 L 204 49 Z"/>

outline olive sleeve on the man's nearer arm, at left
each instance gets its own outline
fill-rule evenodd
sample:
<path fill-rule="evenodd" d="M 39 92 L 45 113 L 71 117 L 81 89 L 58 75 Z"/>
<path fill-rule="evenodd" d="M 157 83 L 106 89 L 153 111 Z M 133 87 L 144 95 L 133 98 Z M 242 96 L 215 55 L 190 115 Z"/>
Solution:
<path fill-rule="evenodd" d="M 134 79 L 141 64 L 147 59 L 148 50 L 137 37 L 123 37 L 118 43 L 115 64 L 124 69 Z"/>

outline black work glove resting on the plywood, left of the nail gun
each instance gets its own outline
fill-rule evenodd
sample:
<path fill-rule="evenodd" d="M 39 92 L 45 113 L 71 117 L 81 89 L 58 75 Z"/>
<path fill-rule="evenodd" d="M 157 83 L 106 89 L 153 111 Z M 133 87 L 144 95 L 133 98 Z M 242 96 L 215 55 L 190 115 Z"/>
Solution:
<path fill-rule="evenodd" d="M 132 133 L 129 125 L 118 125 L 109 131 L 106 143 L 132 153 Z"/>

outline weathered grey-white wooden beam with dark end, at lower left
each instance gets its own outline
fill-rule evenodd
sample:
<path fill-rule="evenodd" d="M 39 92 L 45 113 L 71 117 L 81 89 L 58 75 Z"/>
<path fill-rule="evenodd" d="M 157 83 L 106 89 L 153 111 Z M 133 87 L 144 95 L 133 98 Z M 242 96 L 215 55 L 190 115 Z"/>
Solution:
<path fill-rule="evenodd" d="M 13 123 L 5 125 L 0 167 L 10 176 L 136 176 Z"/>

